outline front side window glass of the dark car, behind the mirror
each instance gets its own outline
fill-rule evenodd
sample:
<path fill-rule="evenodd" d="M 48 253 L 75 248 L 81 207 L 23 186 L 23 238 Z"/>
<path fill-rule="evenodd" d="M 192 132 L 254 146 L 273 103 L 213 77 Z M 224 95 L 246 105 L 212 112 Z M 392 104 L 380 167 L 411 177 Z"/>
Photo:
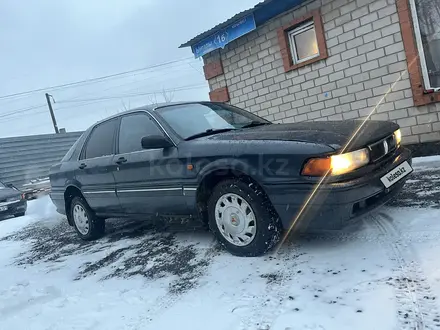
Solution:
<path fill-rule="evenodd" d="M 119 153 L 143 150 L 142 138 L 151 135 L 163 135 L 163 132 L 147 114 L 138 113 L 122 117 L 119 128 Z"/>

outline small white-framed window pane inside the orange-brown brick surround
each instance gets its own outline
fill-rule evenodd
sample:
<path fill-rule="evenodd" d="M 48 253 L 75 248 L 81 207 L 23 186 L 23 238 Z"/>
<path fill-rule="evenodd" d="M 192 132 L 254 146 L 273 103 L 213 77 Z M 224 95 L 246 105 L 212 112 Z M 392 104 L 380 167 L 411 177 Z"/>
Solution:
<path fill-rule="evenodd" d="M 288 34 L 293 63 L 298 64 L 319 56 L 313 21 L 298 26 Z"/>

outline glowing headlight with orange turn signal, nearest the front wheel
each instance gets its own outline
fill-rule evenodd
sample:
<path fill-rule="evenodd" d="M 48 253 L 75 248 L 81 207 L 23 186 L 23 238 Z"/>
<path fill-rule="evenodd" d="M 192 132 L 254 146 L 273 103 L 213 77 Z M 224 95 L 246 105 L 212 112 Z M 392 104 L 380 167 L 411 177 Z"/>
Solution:
<path fill-rule="evenodd" d="M 312 158 L 307 161 L 301 172 L 302 175 L 324 176 L 341 175 L 354 171 L 370 162 L 368 149 L 360 149 L 326 158 Z"/>

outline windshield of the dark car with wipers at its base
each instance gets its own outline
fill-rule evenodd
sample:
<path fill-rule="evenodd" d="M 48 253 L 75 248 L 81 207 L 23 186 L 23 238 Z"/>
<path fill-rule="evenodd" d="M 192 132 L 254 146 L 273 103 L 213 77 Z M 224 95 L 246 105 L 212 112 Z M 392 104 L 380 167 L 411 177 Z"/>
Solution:
<path fill-rule="evenodd" d="M 203 132 L 270 124 L 250 112 L 221 103 L 173 105 L 157 112 L 183 139 Z"/>

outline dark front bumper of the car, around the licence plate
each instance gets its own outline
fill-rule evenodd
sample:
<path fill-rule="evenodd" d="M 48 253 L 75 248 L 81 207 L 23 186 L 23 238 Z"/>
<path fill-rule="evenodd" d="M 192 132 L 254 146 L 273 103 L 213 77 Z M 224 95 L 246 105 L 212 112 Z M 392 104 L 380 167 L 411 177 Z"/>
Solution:
<path fill-rule="evenodd" d="M 369 175 L 344 182 L 324 183 L 316 189 L 312 198 L 315 183 L 276 184 L 264 189 L 285 229 L 290 228 L 295 220 L 295 229 L 300 231 L 340 229 L 347 220 L 376 209 L 400 192 L 410 175 L 389 188 L 385 188 L 380 178 L 405 161 L 412 164 L 411 152 L 400 147 L 385 164 Z"/>

